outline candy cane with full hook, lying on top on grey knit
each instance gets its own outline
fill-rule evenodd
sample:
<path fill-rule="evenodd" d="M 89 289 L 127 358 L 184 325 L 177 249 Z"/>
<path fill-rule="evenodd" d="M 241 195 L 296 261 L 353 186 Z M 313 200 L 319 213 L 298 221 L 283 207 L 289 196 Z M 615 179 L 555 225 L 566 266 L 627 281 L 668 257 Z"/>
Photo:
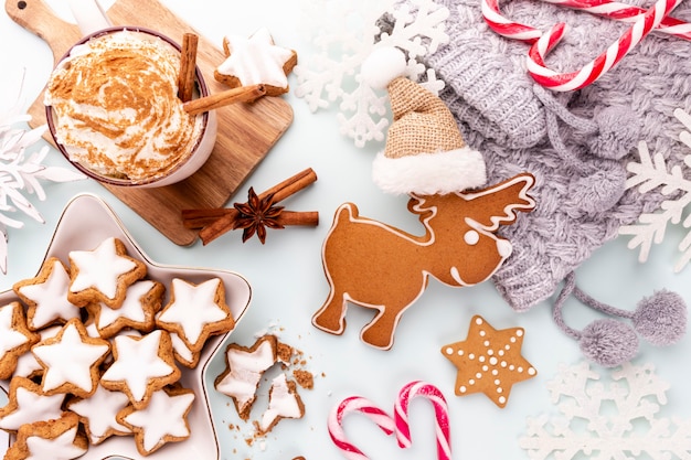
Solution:
<path fill-rule="evenodd" d="M 564 23 L 554 25 L 528 52 L 528 72 L 540 85 L 553 90 L 567 92 L 583 88 L 597 81 L 657 28 L 682 0 L 658 0 L 634 22 L 615 43 L 586 64 L 581 71 L 557 73 L 546 67 L 544 58 L 565 33 Z"/>

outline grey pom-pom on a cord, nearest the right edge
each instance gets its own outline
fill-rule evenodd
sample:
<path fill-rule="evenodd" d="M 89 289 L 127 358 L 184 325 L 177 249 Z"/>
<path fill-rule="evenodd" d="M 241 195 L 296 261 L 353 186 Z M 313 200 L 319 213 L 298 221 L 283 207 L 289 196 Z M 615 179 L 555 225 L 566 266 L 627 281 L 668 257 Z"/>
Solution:
<path fill-rule="evenodd" d="M 687 332 L 687 306 L 678 293 L 661 290 L 638 302 L 631 320 L 651 344 L 671 345 Z"/>

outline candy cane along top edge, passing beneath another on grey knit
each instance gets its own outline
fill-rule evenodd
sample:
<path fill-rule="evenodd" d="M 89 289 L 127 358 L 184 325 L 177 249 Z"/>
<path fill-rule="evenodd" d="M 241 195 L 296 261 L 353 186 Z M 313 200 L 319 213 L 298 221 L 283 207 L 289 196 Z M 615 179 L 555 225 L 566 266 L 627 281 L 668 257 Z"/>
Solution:
<path fill-rule="evenodd" d="M 623 22 L 635 22 L 647 10 L 640 7 L 613 1 L 613 0 L 543 0 L 548 3 L 557 4 L 591 14 L 596 14 Z M 498 0 L 481 0 L 480 7 L 485 22 L 499 35 L 525 43 L 534 43 L 543 35 L 540 29 L 521 24 L 506 18 L 500 9 Z M 691 40 L 691 24 L 676 18 L 663 18 L 655 32 L 666 33 L 678 39 Z"/>

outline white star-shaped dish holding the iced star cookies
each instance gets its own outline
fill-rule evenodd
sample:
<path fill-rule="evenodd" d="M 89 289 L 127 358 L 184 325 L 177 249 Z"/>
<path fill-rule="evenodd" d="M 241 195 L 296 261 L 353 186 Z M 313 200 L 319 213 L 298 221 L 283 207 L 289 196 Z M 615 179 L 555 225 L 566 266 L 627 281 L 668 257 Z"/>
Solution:
<path fill-rule="evenodd" d="M 225 285 L 226 303 L 231 307 L 236 325 L 243 318 L 252 297 L 252 289 L 245 278 L 227 270 L 164 266 L 151 261 L 137 246 L 108 205 L 94 195 L 78 195 L 67 204 L 57 223 L 57 228 L 45 257 L 54 256 L 62 260 L 67 260 L 68 252 L 93 249 L 109 236 L 120 238 L 132 257 L 139 258 L 147 264 L 148 277 L 161 281 L 166 286 L 170 285 L 173 277 L 182 277 L 192 282 L 201 282 L 211 277 L 221 278 Z M 39 268 L 36 267 L 36 271 Z M 14 299 L 14 292 L 11 290 L 0 293 L 0 302 L 2 304 Z M 170 442 L 146 457 L 146 459 L 219 460 L 221 458 L 216 428 L 209 403 L 209 388 L 206 387 L 204 375 L 210 361 L 216 352 L 222 352 L 222 344 L 231 333 L 217 335 L 208 341 L 196 368 L 188 370 L 183 366 L 180 367 L 182 371 L 182 385 L 194 389 L 196 395 L 188 417 L 191 429 L 190 438 L 181 442 Z M 6 389 L 7 382 L 0 382 L 0 387 Z M 6 446 L 7 442 L 0 438 L 0 453 L 4 453 Z M 111 437 L 98 446 L 89 447 L 88 452 L 79 459 L 102 460 L 116 458 L 139 460 L 145 457 L 137 452 L 132 437 Z"/>

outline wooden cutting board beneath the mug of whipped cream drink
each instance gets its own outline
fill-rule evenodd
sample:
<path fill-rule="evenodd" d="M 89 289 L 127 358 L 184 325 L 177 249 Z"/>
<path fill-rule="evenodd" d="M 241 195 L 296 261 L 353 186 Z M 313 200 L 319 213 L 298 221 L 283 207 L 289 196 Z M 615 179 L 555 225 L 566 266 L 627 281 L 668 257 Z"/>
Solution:
<path fill-rule="evenodd" d="M 6 0 L 6 10 L 14 22 L 50 45 L 55 63 L 82 35 L 76 25 L 56 17 L 43 0 Z M 225 60 L 221 44 L 211 43 L 158 0 L 116 0 L 107 13 L 115 25 L 146 26 L 179 43 L 183 33 L 196 33 L 198 65 L 211 93 L 227 89 L 213 78 L 213 69 Z M 42 100 L 43 94 L 29 109 L 34 127 L 45 124 Z M 178 245 L 187 246 L 196 239 L 196 232 L 182 225 L 181 210 L 223 206 L 293 122 L 290 105 L 279 97 L 264 97 L 252 105 L 236 104 L 216 111 L 216 146 L 209 161 L 191 178 L 149 190 L 106 186 Z M 46 139 L 52 142 L 50 133 Z"/>

